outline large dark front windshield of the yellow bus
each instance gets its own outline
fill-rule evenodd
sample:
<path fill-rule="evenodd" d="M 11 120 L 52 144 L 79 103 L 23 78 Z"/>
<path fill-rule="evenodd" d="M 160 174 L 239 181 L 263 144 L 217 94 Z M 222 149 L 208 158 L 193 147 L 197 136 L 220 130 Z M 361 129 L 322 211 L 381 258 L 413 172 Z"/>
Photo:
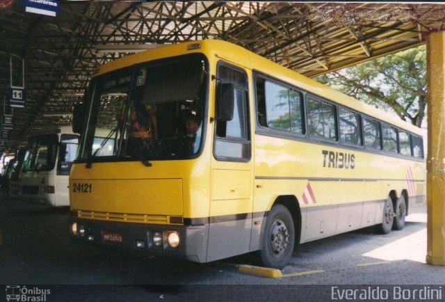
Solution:
<path fill-rule="evenodd" d="M 188 159 L 202 148 L 207 60 L 143 63 L 93 79 L 79 161 Z"/>

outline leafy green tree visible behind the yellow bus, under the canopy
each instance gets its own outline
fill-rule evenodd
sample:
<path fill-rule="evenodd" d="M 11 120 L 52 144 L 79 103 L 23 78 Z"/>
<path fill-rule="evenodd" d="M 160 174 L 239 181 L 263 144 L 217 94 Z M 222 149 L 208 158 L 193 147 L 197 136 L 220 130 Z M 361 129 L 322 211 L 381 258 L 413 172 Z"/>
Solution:
<path fill-rule="evenodd" d="M 420 46 L 316 78 L 421 127 L 426 111 L 426 47 Z"/>

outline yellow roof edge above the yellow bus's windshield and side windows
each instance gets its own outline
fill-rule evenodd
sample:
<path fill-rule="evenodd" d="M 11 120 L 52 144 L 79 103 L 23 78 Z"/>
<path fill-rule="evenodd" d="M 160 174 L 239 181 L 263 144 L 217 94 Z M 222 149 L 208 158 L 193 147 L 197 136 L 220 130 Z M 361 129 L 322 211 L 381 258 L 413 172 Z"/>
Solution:
<path fill-rule="evenodd" d="M 189 45 L 191 46 L 189 47 Z M 189 48 L 191 48 L 191 50 L 188 50 Z M 385 111 L 376 109 L 375 107 L 365 104 L 364 102 L 360 102 L 359 100 L 341 93 L 338 90 L 320 84 L 313 79 L 309 79 L 308 77 L 299 74 L 298 72 L 254 54 L 252 51 L 223 40 L 199 40 L 174 45 L 160 45 L 154 49 L 149 49 L 138 54 L 118 58 L 115 61 L 106 63 L 96 70 L 95 77 L 99 74 L 111 72 L 113 70 L 133 64 L 152 61 L 159 58 L 168 58 L 170 56 L 179 56 L 181 54 L 188 54 L 192 52 L 204 53 L 209 58 L 217 56 L 218 58 L 225 59 L 237 65 L 242 65 L 250 70 L 257 70 L 258 72 L 267 74 L 275 79 L 280 79 L 291 86 L 295 86 L 296 88 L 313 93 L 314 95 L 318 95 L 327 100 L 332 100 L 337 104 L 349 107 L 350 109 L 364 113 L 372 118 L 376 118 L 383 122 L 388 122 L 391 125 L 401 127 L 402 129 L 406 129 L 414 134 L 419 134 L 421 136 L 423 135 L 422 129 L 410 124 L 409 122 L 401 120 L 401 118 L 397 118 L 396 116 L 392 116 Z"/>

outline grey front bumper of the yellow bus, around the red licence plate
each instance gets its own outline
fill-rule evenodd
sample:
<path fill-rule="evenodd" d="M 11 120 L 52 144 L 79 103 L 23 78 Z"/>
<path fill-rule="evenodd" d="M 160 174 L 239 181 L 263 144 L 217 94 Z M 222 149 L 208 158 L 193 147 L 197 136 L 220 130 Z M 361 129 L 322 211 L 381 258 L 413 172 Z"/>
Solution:
<path fill-rule="evenodd" d="M 77 223 L 76 234 L 72 232 L 73 223 Z M 79 232 L 81 228 L 84 230 L 83 234 Z M 159 246 L 156 246 L 153 240 L 156 232 L 163 235 L 162 244 Z M 179 234 L 179 246 L 176 248 L 172 248 L 167 243 L 170 232 Z M 81 244 L 134 251 L 142 255 L 167 255 L 194 262 L 206 262 L 207 258 L 207 248 L 204 248 L 208 234 L 206 225 L 153 225 L 72 217 L 70 218 L 70 234 L 72 239 Z M 110 237 L 113 239 L 109 240 Z"/>

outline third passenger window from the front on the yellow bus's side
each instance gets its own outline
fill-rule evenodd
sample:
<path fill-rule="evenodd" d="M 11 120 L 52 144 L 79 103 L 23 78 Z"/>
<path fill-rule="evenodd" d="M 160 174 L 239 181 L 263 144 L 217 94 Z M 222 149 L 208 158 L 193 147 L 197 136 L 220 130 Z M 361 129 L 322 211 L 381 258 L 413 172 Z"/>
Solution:
<path fill-rule="evenodd" d="M 362 145 L 362 117 L 344 108 L 339 109 L 340 140 L 348 145 Z"/>

